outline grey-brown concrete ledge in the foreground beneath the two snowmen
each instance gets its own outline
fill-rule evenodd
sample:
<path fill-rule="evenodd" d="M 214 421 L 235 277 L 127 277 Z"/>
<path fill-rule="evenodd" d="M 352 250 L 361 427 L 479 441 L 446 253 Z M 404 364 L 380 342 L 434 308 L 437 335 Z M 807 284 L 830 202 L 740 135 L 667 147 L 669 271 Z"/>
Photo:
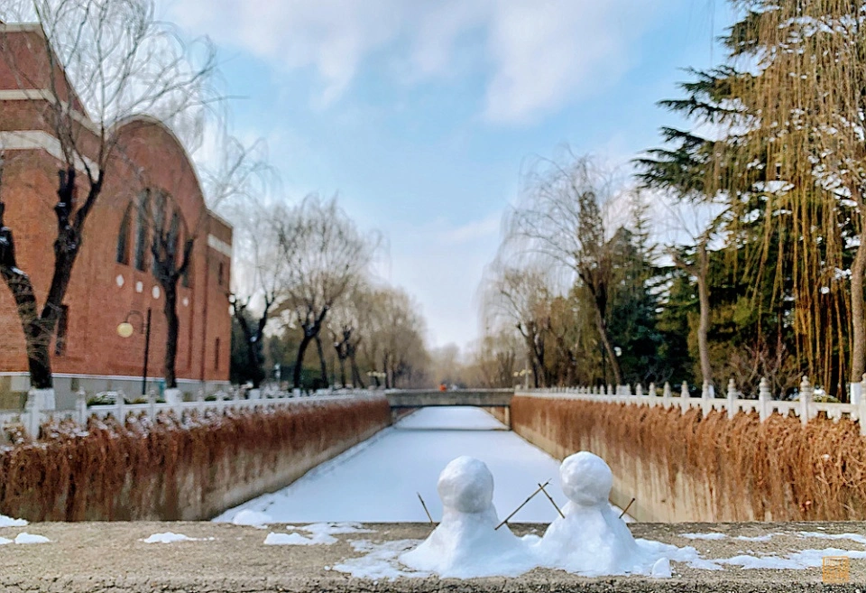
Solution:
<path fill-rule="evenodd" d="M 331 545 L 265 545 L 268 533 L 286 533 L 284 525 L 269 529 L 212 523 L 78 523 L 30 524 L 0 528 L 0 538 L 26 532 L 51 540 L 41 544 L 0 545 L 0 591 L 120 593 L 183 591 L 200 593 L 259 591 L 852 591 L 866 590 L 866 559 L 850 562 L 850 582 L 825 585 L 821 568 L 806 570 L 699 570 L 674 562 L 671 579 L 603 577 L 588 579 L 560 570 L 532 570 L 513 579 L 437 579 L 352 577 L 335 567 L 364 555 L 366 548 L 422 540 L 428 524 L 364 524 L 372 533 L 335 535 Z M 778 556 L 828 547 L 866 551 L 850 539 L 804 537 L 798 532 L 866 534 L 862 523 L 801 524 L 630 524 L 635 537 L 695 546 L 705 559 L 730 558 L 749 551 Z M 541 525 L 511 525 L 514 533 L 539 533 Z M 182 533 L 192 542 L 145 543 L 154 533 Z M 688 533 L 722 533 L 718 539 L 689 539 Z M 767 541 L 739 540 L 772 534 Z M 211 539 L 212 538 L 212 539 Z M 866 540 L 863 540 L 866 541 Z"/>

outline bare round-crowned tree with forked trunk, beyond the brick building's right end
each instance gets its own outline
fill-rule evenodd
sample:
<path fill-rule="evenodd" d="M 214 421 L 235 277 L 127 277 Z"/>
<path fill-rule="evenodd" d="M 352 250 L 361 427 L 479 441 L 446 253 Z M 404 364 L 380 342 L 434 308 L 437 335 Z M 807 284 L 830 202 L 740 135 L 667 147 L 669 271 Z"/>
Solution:
<path fill-rule="evenodd" d="M 378 245 L 375 236 L 364 236 L 351 218 L 337 206 L 336 198 L 322 201 L 310 195 L 297 207 L 275 219 L 281 257 L 286 260 L 284 304 L 303 332 L 293 381 L 300 386 L 304 354 L 311 341 L 319 350 L 321 378 L 327 384 L 327 367 L 319 334 L 329 310 L 364 276 Z"/>

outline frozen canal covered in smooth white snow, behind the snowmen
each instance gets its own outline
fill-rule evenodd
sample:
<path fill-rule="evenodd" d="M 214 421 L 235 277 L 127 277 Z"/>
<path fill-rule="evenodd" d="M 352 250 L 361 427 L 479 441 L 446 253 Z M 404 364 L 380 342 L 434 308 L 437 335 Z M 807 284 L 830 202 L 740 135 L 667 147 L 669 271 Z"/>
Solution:
<path fill-rule="evenodd" d="M 301 477 L 291 486 L 259 496 L 219 515 L 231 521 L 241 510 L 268 514 L 274 523 L 425 522 L 424 498 L 438 521 L 439 472 L 461 455 L 481 459 L 493 472 L 493 504 L 501 518 L 510 514 L 539 483 L 564 505 L 559 462 L 507 431 L 477 408 L 423 408 Z M 549 523 L 556 509 L 535 496 L 512 521 Z"/>

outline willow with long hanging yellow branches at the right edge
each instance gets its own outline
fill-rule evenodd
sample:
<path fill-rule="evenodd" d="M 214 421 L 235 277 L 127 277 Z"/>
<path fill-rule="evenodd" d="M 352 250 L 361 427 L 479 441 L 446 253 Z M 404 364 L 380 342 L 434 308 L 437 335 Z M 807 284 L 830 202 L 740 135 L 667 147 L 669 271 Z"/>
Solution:
<path fill-rule="evenodd" d="M 834 389 L 847 366 L 857 385 L 866 370 L 866 4 L 733 4 L 742 19 L 724 42 L 732 63 L 752 73 L 732 79 L 749 114 L 739 149 L 743 163 L 766 163 L 752 185 L 766 197 L 758 266 L 779 286 L 789 276 L 808 372 Z M 737 181 L 722 180 L 719 189 L 737 189 Z M 773 236 L 791 250 L 787 273 L 769 259 Z"/>

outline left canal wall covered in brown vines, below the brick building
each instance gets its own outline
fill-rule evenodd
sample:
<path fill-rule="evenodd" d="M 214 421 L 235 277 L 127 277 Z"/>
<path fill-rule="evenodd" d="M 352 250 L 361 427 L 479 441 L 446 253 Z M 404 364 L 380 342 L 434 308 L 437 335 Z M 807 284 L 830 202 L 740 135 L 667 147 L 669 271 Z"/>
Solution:
<path fill-rule="evenodd" d="M 179 417 L 91 417 L 0 449 L 0 514 L 30 521 L 209 519 L 288 486 L 391 423 L 382 395 Z"/>

